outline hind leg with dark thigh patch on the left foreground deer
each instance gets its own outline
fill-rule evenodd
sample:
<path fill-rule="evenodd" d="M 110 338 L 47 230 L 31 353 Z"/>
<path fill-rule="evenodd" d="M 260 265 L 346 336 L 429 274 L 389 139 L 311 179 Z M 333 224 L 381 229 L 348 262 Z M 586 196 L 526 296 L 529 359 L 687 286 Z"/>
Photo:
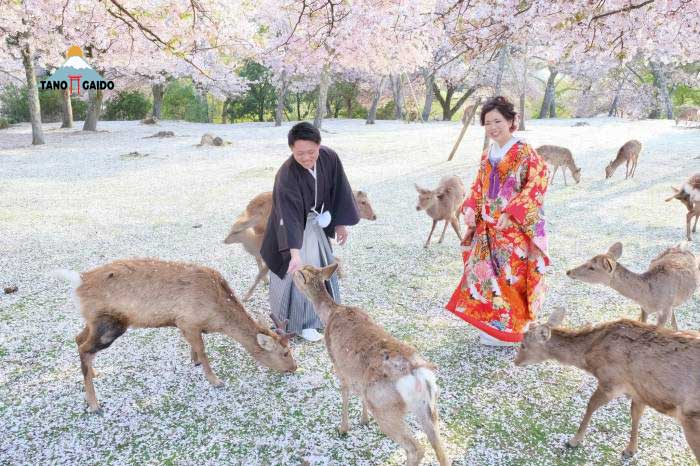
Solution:
<path fill-rule="evenodd" d="M 100 411 L 95 385 L 92 383 L 92 379 L 95 377 L 95 371 L 92 368 L 95 355 L 98 351 L 108 348 L 125 331 L 126 326 L 119 320 L 103 316 L 98 318 L 90 328 L 83 329 L 76 337 L 76 342 L 79 338 L 81 340 L 81 343 L 78 344 L 78 354 L 80 355 L 80 369 L 85 385 L 85 398 L 90 412 Z"/>

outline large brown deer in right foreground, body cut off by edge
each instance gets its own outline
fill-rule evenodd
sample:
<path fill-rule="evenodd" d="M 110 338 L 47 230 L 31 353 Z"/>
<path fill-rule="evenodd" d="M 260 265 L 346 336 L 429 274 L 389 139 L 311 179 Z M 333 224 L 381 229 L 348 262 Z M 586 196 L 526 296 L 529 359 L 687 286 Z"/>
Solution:
<path fill-rule="evenodd" d="M 558 327 L 563 318 L 558 309 L 547 323 L 531 324 L 515 364 L 554 359 L 598 379 L 581 425 L 567 445 L 581 444 L 598 408 L 627 395 L 632 399 L 632 431 L 623 455 L 637 452 L 639 420 L 651 406 L 680 423 L 700 461 L 700 333 L 673 332 L 627 319 L 565 329 Z"/>

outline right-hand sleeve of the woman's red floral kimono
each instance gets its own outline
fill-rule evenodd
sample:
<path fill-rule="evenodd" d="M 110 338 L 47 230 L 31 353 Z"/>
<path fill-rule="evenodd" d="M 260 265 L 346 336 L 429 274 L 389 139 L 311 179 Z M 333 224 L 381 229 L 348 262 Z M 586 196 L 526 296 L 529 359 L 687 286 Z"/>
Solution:
<path fill-rule="evenodd" d="M 526 170 L 525 183 L 520 192 L 513 197 L 503 209 L 518 224 L 527 227 L 537 222 L 539 210 L 542 207 L 544 194 L 547 191 L 549 172 L 544 159 L 530 146 L 525 145 L 528 153 L 523 158 L 521 168 Z"/>

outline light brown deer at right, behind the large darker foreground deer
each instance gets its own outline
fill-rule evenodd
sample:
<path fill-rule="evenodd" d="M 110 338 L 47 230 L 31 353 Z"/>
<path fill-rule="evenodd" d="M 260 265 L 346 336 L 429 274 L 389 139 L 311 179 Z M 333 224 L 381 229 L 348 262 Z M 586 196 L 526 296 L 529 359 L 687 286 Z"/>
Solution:
<path fill-rule="evenodd" d="M 649 315 L 658 314 L 658 326 L 664 326 L 670 318 L 677 330 L 674 309 L 686 302 L 700 285 L 700 264 L 687 244 L 664 250 L 641 274 L 620 264 L 621 255 L 622 243 L 618 242 L 606 253 L 594 256 L 567 271 L 566 275 L 582 282 L 609 286 L 641 306 L 642 322 L 646 322 Z"/>

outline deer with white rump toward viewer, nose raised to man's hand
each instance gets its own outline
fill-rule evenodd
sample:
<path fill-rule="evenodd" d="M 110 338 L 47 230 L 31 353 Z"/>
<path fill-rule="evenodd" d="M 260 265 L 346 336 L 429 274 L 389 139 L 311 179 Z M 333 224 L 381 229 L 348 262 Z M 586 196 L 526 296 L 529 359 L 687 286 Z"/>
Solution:
<path fill-rule="evenodd" d="M 361 309 L 336 304 L 324 284 L 335 269 L 336 264 L 322 269 L 305 266 L 294 272 L 293 279 L 326 328 L 326 348 L 343 398 L 340 432 L 348 432 L 349 397 L 357 394 L 362 398 L 362 423 L 367 424 L 369 411 L 382 432 L 406 450 L 407 465 L 417 466 L 424 454 L 404 419 L 408 412 L 428 436 L 440 465 L 449 465 L 440 440 L 434 365 Z"/>

